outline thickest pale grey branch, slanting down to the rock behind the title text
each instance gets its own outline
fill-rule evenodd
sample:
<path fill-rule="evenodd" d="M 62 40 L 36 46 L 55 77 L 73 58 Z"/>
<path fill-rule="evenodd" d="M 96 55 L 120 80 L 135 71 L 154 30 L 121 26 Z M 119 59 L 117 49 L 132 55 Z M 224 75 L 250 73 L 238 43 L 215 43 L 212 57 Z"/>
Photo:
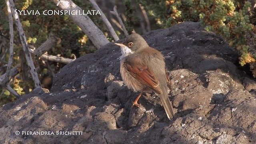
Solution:
<path fill-rule="evenodd" d="M 52 0 L 55 4 L 58 3 L 59 0 Z M 83 10 L 74 4 L 72 0 L 61 0 L 58 7 L 63 10 L 74 10 L 77 12 L 81 12 L 83 14 Z M 85 11 L 86 13 L 87 11 Z M 103 32 L 92 22 L 89 16 L 86 15 L 70 15 L 70 18 L 74 20 L 74 22 L 82 29 L 82 31 L 88 36 L 88 38 L 92 41 L 96 48 L 100 48 L 101 46 L 109 43 L 106 36 Z"/>

